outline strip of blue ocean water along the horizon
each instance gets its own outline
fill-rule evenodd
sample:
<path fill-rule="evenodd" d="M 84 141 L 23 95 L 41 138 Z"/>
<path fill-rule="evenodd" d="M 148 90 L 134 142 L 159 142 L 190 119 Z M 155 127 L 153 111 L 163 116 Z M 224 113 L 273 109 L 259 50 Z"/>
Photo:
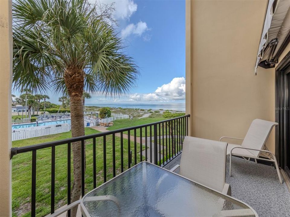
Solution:
<path fill-rule="evenodd" d="M 99 106 L 99 107 L 113 107 L 113 108 L 144 108 L 144 109 L 163 109 L 163 110 L 178 110 L 185 111 L 185 103 L 86 103 L 87 106 Z"/>

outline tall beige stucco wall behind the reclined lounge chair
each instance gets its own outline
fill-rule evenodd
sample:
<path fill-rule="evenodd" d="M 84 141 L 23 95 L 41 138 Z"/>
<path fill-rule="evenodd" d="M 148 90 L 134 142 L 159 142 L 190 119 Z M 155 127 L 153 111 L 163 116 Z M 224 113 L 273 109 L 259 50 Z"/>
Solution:
<path fill-rule="evenodd" d="M 266 0 L 195 0 L 186 6 L 191 7 L 186 51 L 191 135 L 243 138 L 253 119 L 275 121 L 275 70 L 259 67 L 254 76 Z M 274 152 L 274 132 L 267 147 Z"/>

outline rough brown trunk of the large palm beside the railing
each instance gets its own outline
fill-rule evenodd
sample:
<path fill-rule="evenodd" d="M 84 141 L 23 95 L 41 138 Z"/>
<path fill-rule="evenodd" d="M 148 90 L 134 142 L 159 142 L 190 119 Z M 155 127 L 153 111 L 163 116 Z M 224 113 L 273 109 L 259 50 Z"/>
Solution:
<path fill-rule="evenodd" d="M 68 67 L 64 74 L 65 85 L 70 98 L 72 137 L 84 136 L 84 113 L 82 94 L 84 89 L 84 72 L 76 67 Z M 84 152 L 85 153 L 85 152 Z M 73 185 L 71 202 L 81 196 L 81 142 L 72 143 L 73 154 Z M 77 207 L 71 210 L 75 217 Z"/>

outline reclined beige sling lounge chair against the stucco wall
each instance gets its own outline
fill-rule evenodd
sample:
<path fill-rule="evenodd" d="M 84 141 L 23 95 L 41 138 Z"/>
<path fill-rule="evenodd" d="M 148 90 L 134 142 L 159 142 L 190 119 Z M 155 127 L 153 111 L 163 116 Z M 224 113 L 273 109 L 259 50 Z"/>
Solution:
<path fill-rule="evenodd" d="M 277 169 L 279 181 L 283 183 L 276 157 L 265 146 L 265 143 L 273 127 L 276 125 L 278 125 L 278 123 L 276 122 L 255 119 L 253 120 L 244 139 L 235 138 L 235 137 L 221 137 L 220 138 L 220 141 L 224 138 L 243 140 L 241 145 L 230 144 L 230 143 L 228 144 L 227 155 L 230 156 L 230 176 L 231 176 L 231 157 L 241 156 L 244 159 L 248 158 L 248 160 L 250 160 L 250 158 L 253 158 L 255 159 L 256 163 L 257 163 L 257 159 L 274 162 Z M 267 157 L 267 159 L 260 158 L 260 155 Z"/>

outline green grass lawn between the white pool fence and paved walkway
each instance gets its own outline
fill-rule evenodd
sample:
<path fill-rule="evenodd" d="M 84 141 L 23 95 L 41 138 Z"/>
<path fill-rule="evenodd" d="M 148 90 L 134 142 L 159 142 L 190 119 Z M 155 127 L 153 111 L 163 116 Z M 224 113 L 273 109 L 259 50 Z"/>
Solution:
<path fill-rule="evenodd" d="M 86 127 L 85 134 L 99 133 L 92 128 Z M 49 141 L 61 140 L 71 137 L 71 132 L 54 134 L 43 137 L 35 137 L 12 142 L 13 147 L 28 146 Z M 120 138 L 116 137 L 116 175 L 121 172 L 120 162 Z M 128 141 L 123 140 L 124 148 L 124 171 L 128 168 Z M 86 140 L 86 173 L 85 192 L 93 189 L 93 154 L 92 140 Z M 140 145 L 137 144 L 137 153 Z M 96 174 L 97 185 L 103 183 L 103 138 L 96 139 Z M 132 162 L 134 163 L 134 142 L 131 141 Z M 144 150 L 144 147 L 143 147 Z M 31 152 L 21 153 L 12 159 L 12 211 L 13 216 L 30 215 L 31 203 Z M 113 178 L 113 156 L 112 156 L 112 136 L 106 137 L 106 157 L 107 157 L 107 180 Z M 137 162 L 140 155 L 137 154 Z M 55 159 L 55 209 L 63 206 L 67 202 L 67 145 L 56 146 Z M 72 162 L 72 156 L 71 156 Z M 36 165 L 36 213 L 37 216 L 44 216 L 50 212 L 50 192 L 51 192 L 51 148 L 37 150 Z M 71 166 L 71 168 L 73 168 Z M 71 171 L 72 174 L 72 171 Z M 73 178 L 73 176 L 71 175 Z M 72 180 L 73 181 L 73 180 Z"/>

